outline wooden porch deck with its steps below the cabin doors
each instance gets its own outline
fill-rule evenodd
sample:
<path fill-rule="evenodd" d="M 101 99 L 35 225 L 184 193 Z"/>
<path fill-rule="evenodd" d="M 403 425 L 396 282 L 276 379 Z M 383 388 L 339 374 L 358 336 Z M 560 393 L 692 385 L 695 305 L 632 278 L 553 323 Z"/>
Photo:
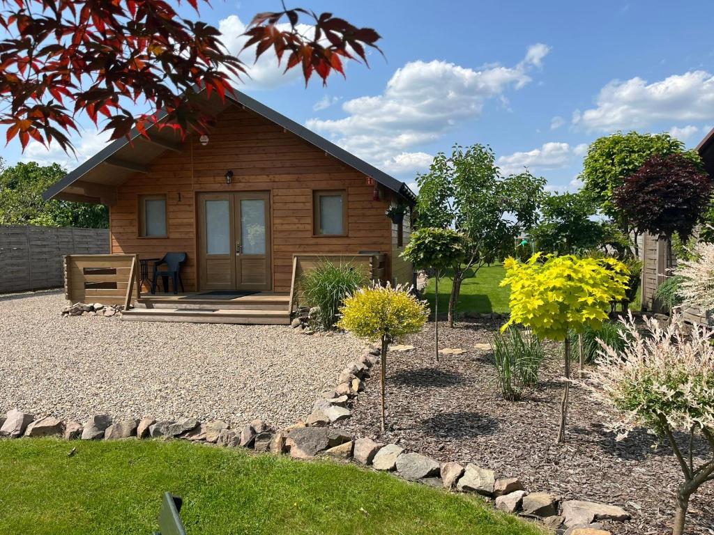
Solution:
<path fill-rule="evenodd" d="M 255 292 L 249 295 L 225 292 L 188 292 L 174 295 L 142 294 L 132 310 L 122 313 L 124 321 L 234 323 L 243 325 L 288 325 L 290 295 Z"/>

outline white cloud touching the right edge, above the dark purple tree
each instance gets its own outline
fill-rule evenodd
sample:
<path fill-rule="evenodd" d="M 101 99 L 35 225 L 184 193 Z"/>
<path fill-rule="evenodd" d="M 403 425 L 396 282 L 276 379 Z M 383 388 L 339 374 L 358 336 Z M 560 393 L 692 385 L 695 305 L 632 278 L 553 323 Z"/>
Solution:
<path fill-rule="evenodd" d="M 573 113 L 573 124 L 587 131 L 646 128 L 658 121 L 714 118 L 714 76 L 706 71 L 675 74 L 648 83 L 642 78 L 613 80 L 600 90 L 595 108 Z"/>

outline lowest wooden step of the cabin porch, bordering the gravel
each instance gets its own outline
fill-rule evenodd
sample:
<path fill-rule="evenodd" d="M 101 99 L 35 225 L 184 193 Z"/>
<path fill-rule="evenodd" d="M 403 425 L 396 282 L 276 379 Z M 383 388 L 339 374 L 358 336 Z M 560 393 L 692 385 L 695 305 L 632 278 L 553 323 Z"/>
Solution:
<path fill-rule="evenodd" d="M 283 310 L 263 309 L 186 309 L 134 308 L 121 313 L 122 321 L 235 323 L 238 325 L 289 325 L 290 314 Z"/>

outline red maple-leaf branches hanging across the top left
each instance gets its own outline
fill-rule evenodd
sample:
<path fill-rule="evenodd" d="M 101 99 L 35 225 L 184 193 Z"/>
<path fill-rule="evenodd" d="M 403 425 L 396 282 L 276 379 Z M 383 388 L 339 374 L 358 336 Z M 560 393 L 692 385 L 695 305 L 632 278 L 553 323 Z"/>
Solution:
<path fill-rule="evenodd" d="M 180 4 L 181 0 L 177 1 Z M 198 12 L 198 1 L 186 0 Z M 301 16 L 310 31 L 298 31 Z M 278 26 L 286 20 L 287 29 Z M 76 119 L 104 119 L 111 139 L 156 124 L 186 136 L 204 133 L 213 117 L 201 107 L 206 90 L 221 97 L 231 80 L 246 76 L 246 66 L 228 54 L 214 26 L 178 16 L 163 0 L 0 0 L 0 123 L 6 141 L 16 136 L 22 148 L 31 139 L 53 141 L 72 150 L 69 136 Z M 326 82 L 343 72 L 341 58 L 361 58 L 377 50 L 376 31 L 358 29 L 332 14 L 283 9 L 258 14 L 246 31 L 246 47 L 256 59 L 273 49 L 286 71 L 302 66 L 308 82 L 313 71 Z M 146 106 L 145 113 L 131 110 Z"/>

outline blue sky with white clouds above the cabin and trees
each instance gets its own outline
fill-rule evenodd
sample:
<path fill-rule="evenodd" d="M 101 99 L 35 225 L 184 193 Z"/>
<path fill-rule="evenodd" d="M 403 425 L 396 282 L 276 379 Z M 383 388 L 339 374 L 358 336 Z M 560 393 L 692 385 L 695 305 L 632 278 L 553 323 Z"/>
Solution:
<path fill-rule="evenodd" d="M 214 1 L 201 18 L 241 48 L 243 24 L 273 0 Z M 504 172 L 527 166 L 549 187 L 577 188 L 587 144 L 617 130 L 670 131 L 693 147 L 714 125 L 714 2 L 300 0 L 383 36 L 386 60 L 351 63 L 305 88 L 274 57 L 237 88 L 413 183 L 438 151 L 484 143 Z M 193 16 L 186 10 L 188 16 Z M 267 54 L 266 54 L 267 56 Z M 252 62 L 252 54 L 246 60 Z M 79 162 L 104 137 L 84 123 Z M 11 143 L 15 161 L 78 161 Z"/>

